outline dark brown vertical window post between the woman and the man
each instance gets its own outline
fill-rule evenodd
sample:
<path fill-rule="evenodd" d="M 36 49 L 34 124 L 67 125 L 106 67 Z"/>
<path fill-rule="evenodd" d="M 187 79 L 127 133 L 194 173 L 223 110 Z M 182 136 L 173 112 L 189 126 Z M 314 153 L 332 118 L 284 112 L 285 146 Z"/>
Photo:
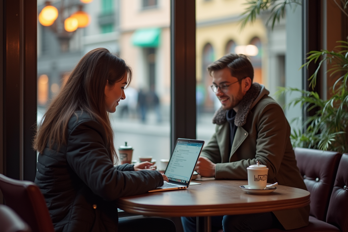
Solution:
<path fill-rule="evenodd" d="M 196 139 L 196 1 L 171 0 L 171 153 Z"/>

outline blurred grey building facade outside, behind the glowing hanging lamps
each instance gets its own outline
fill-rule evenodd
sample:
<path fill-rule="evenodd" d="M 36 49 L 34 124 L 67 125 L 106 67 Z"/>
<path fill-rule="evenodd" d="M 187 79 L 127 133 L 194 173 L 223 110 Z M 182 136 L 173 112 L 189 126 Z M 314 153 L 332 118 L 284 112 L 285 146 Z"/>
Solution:
<path fill-rule="evenodd" d="M 62 1 L 50 2 L 61 9 Z M 38 105 L 44 109 L 50 98 L 60 89 L 64 78 L 68 77 L 77 62 L 89 50 L 106 47 L 114 53 L 119 52 L 118 36 L 118 0 L 94 0 L 88 4 L 79 0 L 64 1 L 65 10 L 60 12 L 51 27 L 42 26 L 38 22 Z M 77 11 L 79 6 L 90 17 L 85 28 L 79 28 L 68 36 L 54 32 L 53 27 L 62 29 L 62 15 Z M 38 1 L 38 12 L 45 7 L 45 1 Z M 105 19 L 106 18 L 106 19 Z M 64 29 L 63 29 L 64 30 Z"/>

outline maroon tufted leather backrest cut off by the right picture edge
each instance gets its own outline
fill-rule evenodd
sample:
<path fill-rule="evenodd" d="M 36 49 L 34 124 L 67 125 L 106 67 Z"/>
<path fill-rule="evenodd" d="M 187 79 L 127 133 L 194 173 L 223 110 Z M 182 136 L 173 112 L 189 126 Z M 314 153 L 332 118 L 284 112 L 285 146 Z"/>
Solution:
<path fill-rule="evenodd" d="M 346 186 L 346 188 L 345 188 Z M 348 154 L 342 155 L 332 190 L 326 222 L 348 232 Z"/>

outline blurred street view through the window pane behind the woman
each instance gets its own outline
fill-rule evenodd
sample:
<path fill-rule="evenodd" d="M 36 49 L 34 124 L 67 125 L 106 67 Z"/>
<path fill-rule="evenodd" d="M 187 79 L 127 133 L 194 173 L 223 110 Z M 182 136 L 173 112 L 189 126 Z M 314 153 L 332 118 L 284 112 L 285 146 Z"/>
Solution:
<path fill-rule="evenodd" d="M 125 142 L 133 146 L 133 160 L 141 155 L 151 155 L 158 163 L 168 159 L 170 1 L 92 0 L 85 4 L 56 0 L 51 4 L 59 11 L 57 20 L 52 26 L 38 23 L 38 73 L 47 77 L 38 77 L 38 121 L 81 57 L 94 48 L 105 47 L 133 69 L 126 99 L 110 114 L 115 147 Z M 157 4 L 161 7 L 139 11 Z M 45 1 L 38 0 L 38 13 L 44 6 Z M 89 15 L 89 25 L 66 32 L 62 22 L 78 10 Z"/>

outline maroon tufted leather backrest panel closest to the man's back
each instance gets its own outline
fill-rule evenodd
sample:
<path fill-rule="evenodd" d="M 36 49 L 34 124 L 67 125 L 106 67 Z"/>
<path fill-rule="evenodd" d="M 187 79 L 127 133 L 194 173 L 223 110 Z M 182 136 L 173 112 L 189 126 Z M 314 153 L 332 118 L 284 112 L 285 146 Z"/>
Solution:
<path fill-rule="evenodd" d="M 341 154 L 315 149 L 294 149 L 297 166 L 310 192 L 310 215 L 325 221 Z"/>

